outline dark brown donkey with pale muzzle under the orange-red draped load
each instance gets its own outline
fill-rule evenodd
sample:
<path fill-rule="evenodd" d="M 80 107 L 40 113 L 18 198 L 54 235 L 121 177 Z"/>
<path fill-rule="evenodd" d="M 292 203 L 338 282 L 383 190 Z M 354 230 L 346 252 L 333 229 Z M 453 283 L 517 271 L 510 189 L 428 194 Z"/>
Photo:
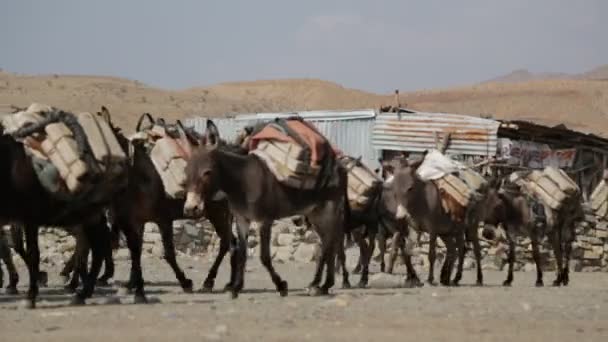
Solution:
<path fill-rule="evenodd" d="M 187 215 L 200 214 L 205 210 L 205 200 L 220 191 L 226 195 L 238 226 L 232 296 L 237 297 L 243 288 L 247 235 L 254 224 L 259 227 L 262 264 L 277 291 L 282 296 L 287 295 L 287 282 L 272 266 L 270 229 L 274 220 L 293 215 L 306 216 L 321 238 L 321 258 L 310 284 L 310 294 L 327 294 L 334 285 L 336 251 L 344 238 L 344 217 L 348 208 L 346 171 L 337 164 L 331 169 L 331 177 L 338 179 L 337 186 L 328 185 L 318 190 L 291 188 L 279 183 L 257 157 L 219 147 L 218 137 L 215 124 L 207 121 L 206 145 L 197 148 L 186 168 L 188 195 L 184 211 Z M 327 267 L 326 279 L 319 287 L 324 267 Z"/>

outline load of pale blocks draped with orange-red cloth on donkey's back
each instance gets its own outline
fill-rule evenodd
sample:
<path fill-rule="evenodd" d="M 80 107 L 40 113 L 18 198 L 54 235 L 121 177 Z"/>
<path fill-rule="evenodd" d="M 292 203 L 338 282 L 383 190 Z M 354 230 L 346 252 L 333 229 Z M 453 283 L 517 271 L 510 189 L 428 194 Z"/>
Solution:
<path fill-rule="evenodd" d="M 337 152 L 312 124 L 300 117 L 275 119 L 251 133 L 247 149 L 282 184 L 302 190 L 337 186 Z"/>

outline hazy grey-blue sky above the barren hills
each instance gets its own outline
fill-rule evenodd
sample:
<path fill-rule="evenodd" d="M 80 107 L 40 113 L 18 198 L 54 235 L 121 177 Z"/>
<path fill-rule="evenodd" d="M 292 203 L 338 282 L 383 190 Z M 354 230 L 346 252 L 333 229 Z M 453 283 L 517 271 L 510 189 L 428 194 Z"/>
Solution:
<path fill-rule="evenodd" d="M 0 68 L 376 92 L 608 63 L 606 0 L 0 0 Z"/>

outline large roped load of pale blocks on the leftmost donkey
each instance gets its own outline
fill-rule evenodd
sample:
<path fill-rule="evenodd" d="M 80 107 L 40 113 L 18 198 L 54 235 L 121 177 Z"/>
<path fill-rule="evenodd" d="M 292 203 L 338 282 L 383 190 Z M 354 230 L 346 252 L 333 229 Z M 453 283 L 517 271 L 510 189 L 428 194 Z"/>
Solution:
<path fill-rule="evenodd" d="M 42 186 L 64 201 L 105 201 L 125 185 L 127 157 L 101 115 L 42 104 L 3 118 L 4 133 L 25 147 Z"/>

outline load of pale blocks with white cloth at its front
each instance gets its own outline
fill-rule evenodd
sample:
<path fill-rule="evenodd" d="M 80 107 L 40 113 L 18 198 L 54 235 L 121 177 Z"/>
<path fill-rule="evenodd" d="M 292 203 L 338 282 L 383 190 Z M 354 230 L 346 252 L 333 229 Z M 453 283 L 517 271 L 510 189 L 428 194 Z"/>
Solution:
<path fill-rule="evenodd" d="M 416 170 L 423 181 L 433 181 L 441 194 L 443 209 L 458 223 L 473 222 L 487 181 L 472 168 L 431 150 Z"/>

